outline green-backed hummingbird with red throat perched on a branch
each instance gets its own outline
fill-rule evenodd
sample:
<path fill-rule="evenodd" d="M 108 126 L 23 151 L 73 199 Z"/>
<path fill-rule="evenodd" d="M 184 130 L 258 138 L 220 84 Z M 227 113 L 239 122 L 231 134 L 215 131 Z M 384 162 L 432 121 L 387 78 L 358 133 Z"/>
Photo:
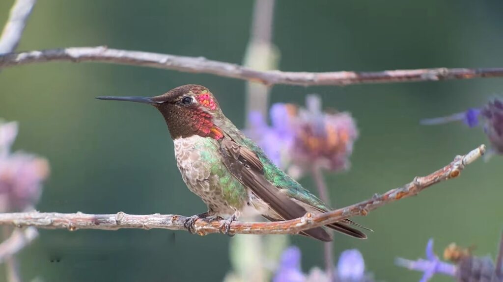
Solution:
<path fill-rule="evenodd" d="M 208 211 L 188 217 L 185 228 L 194 233 L 200 218 L 221 219 L 220 232 L 246 207 L 270 221 L 316 214 L 330 208 L 297 181 L 276 167 L 264 151 L 246 137 L 220 109 L 215 96 L 201 85 L 183 85 L 155 97 L 101 96 L 101 100 L 145 103 L 164 117 L 175 144 L 175 158 L 182 178 Z M 365 228 L 349 219 L 325 225 L 346 235 L 365 239 Z M 370 229 L 368 229 L 370 230 Z M 300 232 L 331 241 L 322 227 Z"/>

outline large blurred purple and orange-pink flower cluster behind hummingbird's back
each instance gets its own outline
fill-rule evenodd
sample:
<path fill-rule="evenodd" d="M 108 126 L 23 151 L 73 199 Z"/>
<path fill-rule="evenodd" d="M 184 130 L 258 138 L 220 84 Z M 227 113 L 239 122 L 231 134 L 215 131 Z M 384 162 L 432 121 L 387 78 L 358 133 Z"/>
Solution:
<path fill-rule="evenodd" d="M 271 107 L 271 126 L 258 112 L 249 115 L 245 130 L 280 168 L 300 177 L 313 163 L 331 171 L 349 168 L 358 137 L 348 112 L 322 112 L 317 95 L 308 95 L 306 108 L 277 103 Z"/>

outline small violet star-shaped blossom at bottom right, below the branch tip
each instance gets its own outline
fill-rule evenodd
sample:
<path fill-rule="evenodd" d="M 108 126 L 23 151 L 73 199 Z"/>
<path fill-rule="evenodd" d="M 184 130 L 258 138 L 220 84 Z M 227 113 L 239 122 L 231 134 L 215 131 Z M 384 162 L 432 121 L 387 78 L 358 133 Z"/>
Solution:
<path fill-rule="evenodd" d="M 399 257 L 396 259 L 395 263 L 408 269 L 424 272 L 420 282 L 430 280 L 436 273 L 449 276 L 456 275 L 456 265 L 441 261 L 433 252 L 433 239 L 430 239 L 426 245 L 426 258 L 427 259 L 420 258 L 417 260 L 408 260 Z"/>

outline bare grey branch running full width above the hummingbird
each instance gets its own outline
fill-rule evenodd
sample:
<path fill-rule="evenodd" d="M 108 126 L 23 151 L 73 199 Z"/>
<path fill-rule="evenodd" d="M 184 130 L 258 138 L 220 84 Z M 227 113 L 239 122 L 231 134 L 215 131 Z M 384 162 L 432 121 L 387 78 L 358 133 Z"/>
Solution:
<path fill-rule="evenodd" d="M 392 83 L 503 77 L 503 68 L 433 68 L 389 70 L 379 72 L 284 72 L 257 71 L 236 64 L 208 60 L 204 57 L 185 57 L 168 54 L 109 49 L 107 47 L 77 47 L 29 51 L 0 55 L 0 68 L 49 61 L 103 62 L 146 66 L 183 72 L 208 73 L 223 77 L 261 82 L 268 85 L 350 85 L 363 83 Z"/>

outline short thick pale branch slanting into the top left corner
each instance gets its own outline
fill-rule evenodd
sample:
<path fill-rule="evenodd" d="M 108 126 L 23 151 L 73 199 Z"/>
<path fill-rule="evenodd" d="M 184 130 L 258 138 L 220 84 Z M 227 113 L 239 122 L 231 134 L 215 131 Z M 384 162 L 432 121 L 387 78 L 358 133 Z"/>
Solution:
<path fill-rule="evenodd" d="M 16 50 L 36 2 L 37 0 L 16 0 L 0 37 L 0 54 Z"/>

